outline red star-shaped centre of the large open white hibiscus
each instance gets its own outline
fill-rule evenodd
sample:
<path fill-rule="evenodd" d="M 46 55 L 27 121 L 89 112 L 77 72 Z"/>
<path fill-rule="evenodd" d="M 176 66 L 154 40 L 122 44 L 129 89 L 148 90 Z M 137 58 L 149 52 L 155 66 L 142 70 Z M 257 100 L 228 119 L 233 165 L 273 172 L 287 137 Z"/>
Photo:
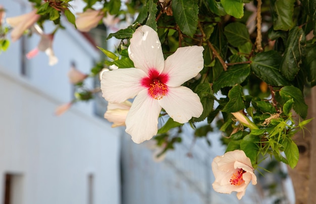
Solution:
<path fill-rule="evenodd" d="M 148 71 L 148 77 L 141 79 L 141 86 L 146 87 L 148 95 L 156 100 L 162 99 L 168 93 L 166 83 L 169 80 L 168 74 L 159 74 L 156 69 Z"/>

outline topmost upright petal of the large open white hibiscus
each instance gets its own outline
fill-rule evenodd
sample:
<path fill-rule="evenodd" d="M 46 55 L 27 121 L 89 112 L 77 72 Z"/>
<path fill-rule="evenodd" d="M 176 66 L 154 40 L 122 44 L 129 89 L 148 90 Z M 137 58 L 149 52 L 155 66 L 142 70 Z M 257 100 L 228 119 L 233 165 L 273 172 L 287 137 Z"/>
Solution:
<path fill-rule="evenodd" d="M 148 73 L 149 69 L 156 69 L 161 73 L 164 69 L 164 54 L 158 34 L 149 26 L 140 26 L 136 29 L 128 55 L 137 69 Z"/>

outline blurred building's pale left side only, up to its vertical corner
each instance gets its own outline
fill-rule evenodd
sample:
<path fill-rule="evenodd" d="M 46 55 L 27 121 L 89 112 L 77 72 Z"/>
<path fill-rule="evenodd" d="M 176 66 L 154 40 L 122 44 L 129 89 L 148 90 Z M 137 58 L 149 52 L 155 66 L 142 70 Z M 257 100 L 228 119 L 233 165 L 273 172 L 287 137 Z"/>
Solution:
<path fill-rule="evenodd" d="M 0 4 L 7 17 L 31 11 L 28 1 Z M 93 102 L 54 114 L 73 99 L 70 67 L 89 73 L 100 57 L 71 24 L 64 26 L 55 35 L 54 66 L 42 52 L 26 59 L 38 35 L 11 42 L 0 54 L 0 203 L 120 203 L 121 130 L 96 117 Z M 86 83 L 93 88 L 93 79 Z"/>

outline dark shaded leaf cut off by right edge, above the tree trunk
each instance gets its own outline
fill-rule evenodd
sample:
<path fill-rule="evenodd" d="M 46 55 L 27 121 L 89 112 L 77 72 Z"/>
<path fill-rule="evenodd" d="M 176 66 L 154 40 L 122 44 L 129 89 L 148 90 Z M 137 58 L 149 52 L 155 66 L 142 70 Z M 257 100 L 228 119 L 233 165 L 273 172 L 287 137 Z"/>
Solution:
<path fill-rule="evenodd" d="M 310 82 L 310 86 L 316 85 L 316 43 L 307 42 L 306 56 L 304 60 L 304 66 L 307 70 L 307 80 Z"/>

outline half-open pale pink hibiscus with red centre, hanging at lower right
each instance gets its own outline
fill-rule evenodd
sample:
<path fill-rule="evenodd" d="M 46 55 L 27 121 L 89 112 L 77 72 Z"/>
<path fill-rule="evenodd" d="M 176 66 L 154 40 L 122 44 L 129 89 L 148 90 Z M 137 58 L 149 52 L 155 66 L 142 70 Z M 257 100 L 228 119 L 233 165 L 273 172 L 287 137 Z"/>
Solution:
<path fill-rule="evenodd" d="M 250 159 L 241 150 L 227 152 L 223 156 L 214 158 L 212 170 L 215 181 L 212 184 L 215 191 L 220 193 L 237 192 L 241 199 L 250 181 L 257 184 L 257 177 L 253 173 Z"/>

